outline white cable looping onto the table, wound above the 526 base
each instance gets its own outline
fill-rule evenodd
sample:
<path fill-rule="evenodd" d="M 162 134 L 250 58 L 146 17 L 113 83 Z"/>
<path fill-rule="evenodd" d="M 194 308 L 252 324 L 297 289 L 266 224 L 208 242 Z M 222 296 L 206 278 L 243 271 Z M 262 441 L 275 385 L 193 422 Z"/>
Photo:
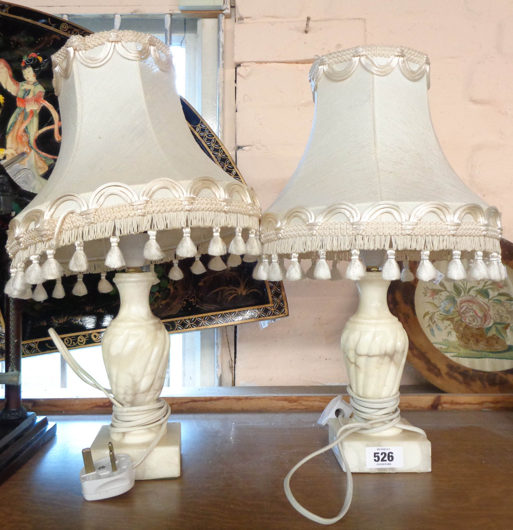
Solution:
<path fill-rule="evenodd" d="M 366 431 L 369 434 L 372 432 L 381 432 L 392 427 L 399 427 L 404 430 L 410 430 L 418 432 L 419 434 L 426 436 L 425 432 L 419 427 L 413 427 L 412 425 L 405 425 L 401 423 L 401 411 L 399 410 L 399 392 L 391 396 L 390 398 L 382 399 L 366 399 L 354 393 L 350 385 L 347 385 L 347 393 L 349 394 L 349 400 L 353 409 L 353 419 L 356 420 L 355 423 L 347 423 L 338 429 L 335 439 L 331 444 L 326 445 L 322 449 L 311 453 L 298 462 L 285 477 L 283 487 L 285 489 L 285 495 L 289 499 L 290 504 L 299 511 L 301 515 L 304 515 L 308 519 L 314 521 L 315 523 L 320 523 L 321 525 L 331 525 L 340 521 L 342 517 L 347 513 L 349 507 L 351 506 L 351 501 L 353 499 L 353 477 L 351 475 L 351 470 L 347 464 L 347 460 L 342 449 L 342 440 L 350 435 L 352 432 Z M 342 461 L 344 462 L 345 472 L 346 472 L 346 492 L 344 505 L 342 509 L 335 517 L 325 518 L 320 517 L 311 511 L 308 511 L 304 508 L 299 502 L 295 499 L 290 489 L 290 479 L 292 475 L 301 467 L 305 462 L 311 460 L 317 455 L 325 453 L 329 449 L 338 446 Z"/>

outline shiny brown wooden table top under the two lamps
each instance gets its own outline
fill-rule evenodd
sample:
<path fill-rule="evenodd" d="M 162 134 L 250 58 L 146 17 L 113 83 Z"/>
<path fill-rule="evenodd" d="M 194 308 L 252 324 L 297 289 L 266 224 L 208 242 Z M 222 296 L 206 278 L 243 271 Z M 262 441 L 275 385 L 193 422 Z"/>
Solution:
<path fill-rule="evenodd" d="M 406 411 L 432 444 L 431 473 L 355 474 L 344 530 L 513 529 L 513 412 Z M 4 530 L 177 528 L 301 530 L 321 525 L 299 515 L 283 479 L 303 456 L 327 443 L 318 413 L 176 414 L 182 475 L 138 481 L 131 491 L 85 501 L 81 449 L 107 416 L 49 417 L 50 440 L 0 485 Z M 330 451 L 291 481 L 297 499 L 324 517 L 338 513 L 345 475 Z"/>

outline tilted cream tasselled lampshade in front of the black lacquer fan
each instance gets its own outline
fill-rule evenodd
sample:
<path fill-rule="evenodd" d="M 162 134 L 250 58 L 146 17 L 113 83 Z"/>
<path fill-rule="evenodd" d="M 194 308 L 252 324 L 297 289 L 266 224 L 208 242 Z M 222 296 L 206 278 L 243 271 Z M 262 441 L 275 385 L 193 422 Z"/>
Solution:
<path fill-rule="evenodd" d="M 105 31 L 70 38 L 52 60 L 62 146 L 48 183 L 10 224 L 11 295 L 26 297 L 26 282 L 130 265 L 118 245 L 128 234 L 147 232 L 146 263 L 208 252 L 220 270 L 229 234 L 232 254 L 261 252 L 255 194 L 197 145 L 169 47 Z"/>

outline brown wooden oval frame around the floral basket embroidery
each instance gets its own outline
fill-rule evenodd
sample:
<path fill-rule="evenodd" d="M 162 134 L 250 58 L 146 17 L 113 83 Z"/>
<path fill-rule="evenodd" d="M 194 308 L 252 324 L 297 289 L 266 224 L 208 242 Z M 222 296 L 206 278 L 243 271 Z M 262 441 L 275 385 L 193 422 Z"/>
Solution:
<path fill-rule="evenodd" d="M 513 243 L 501 239 L 502 262 L 513 269 Z M 416 263 L 410 262 L 412 272 Z M 393 281 L 388 289 L 388 307 L 404 326 L 410 346 L 407 360 L 433 385 L 451 393 L 513 392 L 513 368 L 497 372 L 474 370 L 444 355 L 424 333 L 415 312 L 415 290 L 419 280 Z"/>

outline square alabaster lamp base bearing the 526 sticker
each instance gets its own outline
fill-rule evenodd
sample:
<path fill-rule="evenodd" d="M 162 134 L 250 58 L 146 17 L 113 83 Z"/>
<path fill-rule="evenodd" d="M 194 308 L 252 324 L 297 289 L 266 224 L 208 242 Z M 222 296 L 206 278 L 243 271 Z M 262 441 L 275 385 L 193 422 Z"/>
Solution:
<path fill-rule="evenodd" d="M 349 420 L 350 421 L 350 420 Z M 328 421 L 329 443 L 347 419 L 331 418 Z M 410 425 L 405 419 L 404 425 Z M 351 473 L 429 473 L 431 471 L 431 442 L 418 432 L 401 430 L 366 434 L 353 432 L 341 441 L 344 456 Z M 395 429 L 394 429 L 395 430 Z M 345 471 L 337 446 L 333 448 L 338 463 Z"/>

